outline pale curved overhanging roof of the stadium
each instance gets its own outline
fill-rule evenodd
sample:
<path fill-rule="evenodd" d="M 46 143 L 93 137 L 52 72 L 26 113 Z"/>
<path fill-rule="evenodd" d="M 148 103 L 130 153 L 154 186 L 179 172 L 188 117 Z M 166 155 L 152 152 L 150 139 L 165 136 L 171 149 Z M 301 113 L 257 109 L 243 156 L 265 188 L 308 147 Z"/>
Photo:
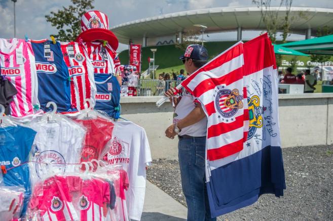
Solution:
<path fill-rule="evenodd" d="M 285 16 L 285 9 L 271 7 L 271 10 L 279 10 L 279 16 Z M 305 18 L 300 18 L 299 13 L 304 12 Z M 291 25 L 292 33 L 305 34 L 312 29 L 313 35 L 317 28 L 333 27 L 333 9 L 292 7 L 290 16 L 296 19 Z M 112 27 L 120 42 L 128 43 L 129 39 L 139 39 L 143 36 L 157 37 L 174 35 L 179 31 L 200 30 L 195 24 L 201 24 L 208 28 L 205 32 L 235 31 L 238 27 L 242 30 L 264 30 L 261 9 L 257 7 L 227 7 L 212 8 L 172 14 L 160 15 L 127 22 Z"/>

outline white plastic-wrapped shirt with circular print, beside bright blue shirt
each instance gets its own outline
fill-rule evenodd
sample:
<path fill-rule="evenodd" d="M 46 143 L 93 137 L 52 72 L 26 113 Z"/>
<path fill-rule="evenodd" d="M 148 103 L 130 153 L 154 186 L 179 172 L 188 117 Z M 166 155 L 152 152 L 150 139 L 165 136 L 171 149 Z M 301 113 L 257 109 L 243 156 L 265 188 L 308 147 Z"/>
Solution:
<path fill-rule="evenodd" d="M 53 123 L 33 122 L 30 126 L 37 131 L 32 154 L 35 161 L 31 168 L 32 183 L 44 179 L 51 171 L 63 174 L 70 170 L 71 166 L 66 163 L 80 162 L 85 137 L 82 126 L 64 119 Z"/>

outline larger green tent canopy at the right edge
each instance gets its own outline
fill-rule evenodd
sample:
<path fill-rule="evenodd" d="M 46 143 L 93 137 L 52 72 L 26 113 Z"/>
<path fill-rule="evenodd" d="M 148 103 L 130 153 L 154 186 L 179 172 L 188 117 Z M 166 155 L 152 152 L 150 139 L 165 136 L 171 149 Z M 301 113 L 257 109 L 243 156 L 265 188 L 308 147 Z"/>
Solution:
<path fill-rule="evenodd" d="M 293 49 L 305 54 L 333 55 L 333 34 L 307 40 L 284 43 L 279 46 Z"/>

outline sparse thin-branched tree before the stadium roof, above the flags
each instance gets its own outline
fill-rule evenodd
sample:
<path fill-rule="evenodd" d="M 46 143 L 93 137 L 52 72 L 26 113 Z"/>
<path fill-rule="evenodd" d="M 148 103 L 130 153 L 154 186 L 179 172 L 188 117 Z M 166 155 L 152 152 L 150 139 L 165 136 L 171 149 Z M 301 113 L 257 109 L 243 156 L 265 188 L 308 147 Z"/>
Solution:
<path fill-rule="evenodd" d="M 293 0 L 280 0 L 277 10 L 271 9 L 272 0 L 252 0 L 258 8 L 261 8 L 262 21 L 266 26 L 269 37 L 272 43 L 276 43 L 277 34 L 281 31 L 282 43 L 286 42 L 287 37 L 290 35 L 290 26 L 294 21 L 301 18 L 306 18 L 304 12 L 300 12 L 298 16 L 291 16 L 290 10 Z M 285 15 L 281 18 L 279 11 L 285 7 Z M 282 55 L 276 55 L 276 64 L 279 67 L 282 62 Z"/>

